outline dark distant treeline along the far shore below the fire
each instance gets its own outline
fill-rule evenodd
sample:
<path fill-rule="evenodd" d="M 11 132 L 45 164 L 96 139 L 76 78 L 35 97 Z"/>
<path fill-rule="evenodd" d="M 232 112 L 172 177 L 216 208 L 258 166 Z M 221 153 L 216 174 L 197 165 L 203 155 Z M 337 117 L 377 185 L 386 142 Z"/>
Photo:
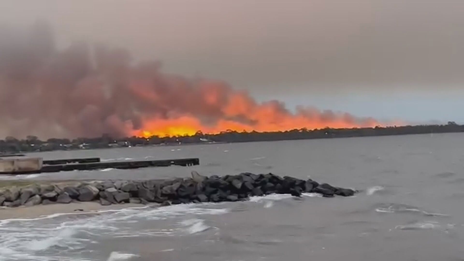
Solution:
<path fill-rule="evenodd" d="M 464 125 L 448 122 L 446 125 L 415 125 L 415 126 L 394 126 L 394 127 L 375 127 L 375 128 L 353 128 L 353 129 L 319 129 L 319 130 L 292 130 L 276 132 L 237 132 L 223 131 L 218 134 L 203 134 L 197 132 L 193 136 L 182 137 L 125 137 L 113 138 L 104 134 L 97 138 L 77 138 L 59 139 L 50 138 L 46 141 L 40 140 L 35 136 L 28 136 L 26 139 L 16 139 L 6 137 L 0 140 L 0 152 L 17 153 L 50 150 L 83 150 L 83 149 L 102 149 L 129 146 L 149 146 L 149 145 L 170 145 L 170 144 L 199 144 L 199 143 L 232 143 L 232 142 L 257 142 L 257 141 L 277 141 L 277 140 L 297 140 L 297 139 L 317 139 L 317 138 L 339 138 L 339 137 L 365 137 L 365 136 L 386 136 L 386 135 L 406 135 L 406 134 L 428 134 L 464 132 Z"/>

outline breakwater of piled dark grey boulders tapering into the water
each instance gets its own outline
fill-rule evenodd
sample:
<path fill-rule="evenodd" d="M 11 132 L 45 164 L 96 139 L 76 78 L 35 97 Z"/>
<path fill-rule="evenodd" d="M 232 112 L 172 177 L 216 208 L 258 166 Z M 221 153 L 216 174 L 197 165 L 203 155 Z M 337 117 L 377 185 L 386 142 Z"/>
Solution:
<path fill-rule="evenodd" d="M 32 184 L 0 191 L 0 206 L 19 207 L 39 204 L 99 201 L 102 205 L 157 202 L 163 205 L 191 202 L 244 201 L 249 196 L 268 194 L 319 193 L 324 197 L 353 196 L 354 190 L 319 184 L 274 174 L 241 173 L 234 176 L 202 176 L 168 180 L 93 181 L 75 185 Z"/>

